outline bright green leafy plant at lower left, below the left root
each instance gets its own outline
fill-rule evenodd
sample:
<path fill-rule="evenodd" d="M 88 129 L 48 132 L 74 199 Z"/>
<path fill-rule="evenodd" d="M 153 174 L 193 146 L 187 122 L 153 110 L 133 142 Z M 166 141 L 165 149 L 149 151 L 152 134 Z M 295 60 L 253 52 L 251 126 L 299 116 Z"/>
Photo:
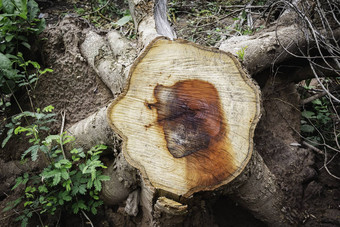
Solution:
<path fill-rule="evenodd" d="M 58 210 L 75 214 L 79 212 L 96 214 L 97 208 L 103 204 L 99 192 L 102 189 L 102 181 L 109 180 L 109 177 L 102 173 L 106 166 L 100 160 L 100 155 L 106 146 L 96 145 L 87 152 L 74 148 L 68 152 L 70 157 L 67 157 L 64 146 L 72 143 L 73 137 L 65 132 L 41 137 L 43 134 L 41 131 L 48 130 L 46 124 L 54 120 L 52 118 L 54 114 L 50 113 L 52 110 L 53 107 L 48 106 L 36 113 L 23 112 L 13 118 L 16 123 L 10 126 L 11 129 L 17 126 L 14 133 L 25 133 L 32 144 L 23 153 L 22 159 L 31 154 L 32 161 L 37 161 L 41 157 L 40 160 L 44 160 L 46 165 L 39 173 L 25 173 L 16 179 L 13 189 L 24 185 L 24 193 L 13 203 L 8 204 L 5 211 L 22 202 L 24 210 L 16 218 L 17 221 L 21 221 L 22 226 L 27 226 L 33 214 L 53 215 Z M 32 118 L 34 123 L 20 126 L 17 122 L 23 117 Z M 8 134 L 7 138 L 10 137 Z"/>

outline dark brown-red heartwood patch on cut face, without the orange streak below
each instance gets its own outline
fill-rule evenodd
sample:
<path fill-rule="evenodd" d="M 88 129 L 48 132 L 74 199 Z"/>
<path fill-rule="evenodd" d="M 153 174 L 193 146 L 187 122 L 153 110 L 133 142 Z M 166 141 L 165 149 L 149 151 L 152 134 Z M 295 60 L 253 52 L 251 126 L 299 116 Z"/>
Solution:
<path fill-rule="evenodd" d="M 169 152 L 182 158 L 206 150 L 224 130 L 220 101 L 212 84 L 185 80 L 172 87 L 157 85 L 158 123 L 163 127 Z"/>

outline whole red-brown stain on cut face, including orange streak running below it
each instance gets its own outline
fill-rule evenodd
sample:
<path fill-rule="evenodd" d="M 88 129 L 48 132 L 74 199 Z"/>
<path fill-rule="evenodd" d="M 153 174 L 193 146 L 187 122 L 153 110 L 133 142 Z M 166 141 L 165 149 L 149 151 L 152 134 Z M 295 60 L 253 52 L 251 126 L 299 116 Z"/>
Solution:
<path fill-rule="evenodd" d="M 202 186 L 217 184 L 235 170 L 218 91 L 203 80 L 157 85 L 157 123 L 168 151 L 187 161 L 187 177 Z"/>

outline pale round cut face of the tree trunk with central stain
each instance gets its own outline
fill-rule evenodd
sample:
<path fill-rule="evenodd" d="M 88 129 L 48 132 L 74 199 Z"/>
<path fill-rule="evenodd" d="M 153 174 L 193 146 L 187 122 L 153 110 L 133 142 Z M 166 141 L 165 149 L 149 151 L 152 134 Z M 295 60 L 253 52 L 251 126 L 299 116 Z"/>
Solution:
<path fill-rule="evenodd" d="M 259 90 L 225 52 L 157 38 L 135 61 L 108 110 L 126 160 L 179 196 L 237 177 L 253 150 Z"/>

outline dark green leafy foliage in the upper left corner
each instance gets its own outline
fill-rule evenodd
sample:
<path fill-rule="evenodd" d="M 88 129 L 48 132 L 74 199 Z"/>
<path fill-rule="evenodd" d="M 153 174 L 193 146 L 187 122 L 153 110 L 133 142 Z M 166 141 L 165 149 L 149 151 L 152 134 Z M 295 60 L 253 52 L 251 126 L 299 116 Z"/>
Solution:
<path fill-rule="evenodd" d="M 35 39 L 45 28 L 45 21 L 38 18 L 38 13 L 38 4 L 33 0 L 2 0 L 0 2 L 0 91 L 2 100 L 0 106 L 2 111 L 6 108 L 4 101 L 7 99 L 6 96 L 13 95 L 19 87 L 25 87 L 29 93 L 35 88 L 41 75 L 52 71 L 50 69 L 41 70 L 37 62 L 26 61 L 22 54 L 23 51 L 27 52 L 31 49 L 30 38 Z"/>

